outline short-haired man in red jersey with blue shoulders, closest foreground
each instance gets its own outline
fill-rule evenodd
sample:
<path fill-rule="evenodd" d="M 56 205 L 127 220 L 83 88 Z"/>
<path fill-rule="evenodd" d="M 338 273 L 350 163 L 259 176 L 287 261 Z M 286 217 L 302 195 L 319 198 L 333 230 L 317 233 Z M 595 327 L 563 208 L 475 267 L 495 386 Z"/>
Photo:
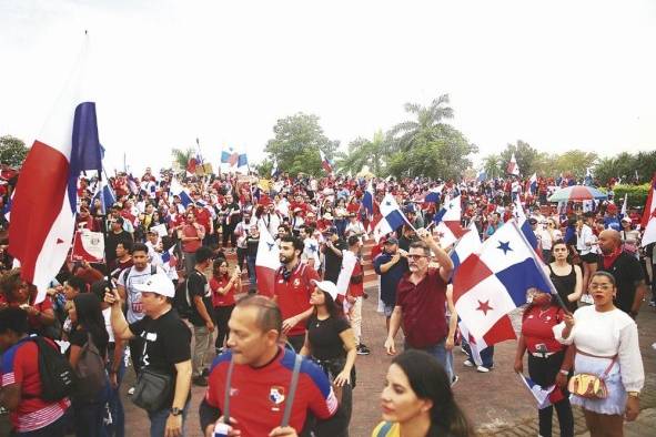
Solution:
<path fill-rule="evenodd" d="M 292 350 L 281 347 L 282 317 L 279 306 L 264 296 L 249 296 L 236 304 L 229 322 L 230 350 L 214 359 L 200 406 L 204 435 L 212 435 L 226 409 L 226 398 L 234 419 L 231 425 L 242 437 L 295 436 L 293 430 L 301 435 L 309 413 L 323 420 L 336 411 L 337 399 L 327 377 L 303 358 L 289 427 L 281 427 L 296 358 Z"/>

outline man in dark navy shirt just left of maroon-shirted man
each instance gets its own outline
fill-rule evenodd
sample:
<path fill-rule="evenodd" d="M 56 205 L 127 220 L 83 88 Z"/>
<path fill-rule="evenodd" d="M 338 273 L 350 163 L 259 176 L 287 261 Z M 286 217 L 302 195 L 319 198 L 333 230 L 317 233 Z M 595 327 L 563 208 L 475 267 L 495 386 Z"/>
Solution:
<path fill-rule="evenodd" d="M 388 237 L 383 252 L 373 261 L 374 271 L 381 276 L 381 301 L 384 304 L 385 326 L 390 331 L 390 317 L 396 304 L 396 286 L 407 272 L 407 252 L 398 248 L 398 240 Z"/>

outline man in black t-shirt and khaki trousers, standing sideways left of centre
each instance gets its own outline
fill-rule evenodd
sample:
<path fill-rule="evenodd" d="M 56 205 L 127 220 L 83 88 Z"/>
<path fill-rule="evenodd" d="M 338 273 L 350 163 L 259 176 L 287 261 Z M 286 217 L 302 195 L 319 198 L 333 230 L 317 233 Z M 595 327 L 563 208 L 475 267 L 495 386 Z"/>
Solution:
<path fill-rule="evenodd" d="M 189 322 L 193 325 L 193 360 L 192 360 L 192 382 L 194 385 L 205 387 L 208 373 L 205 364 L 209 362 L 209 355 L 212 352 L 212 333 L 214 323 L 212 322 L 212 292 L 205 277 L 205 270 L 212 263 L 212 250 L 201 246 L 195 251 L 195 266 L 193 272 L 186 278 L 186 289 L 191 301 L 191 314 Z"/>

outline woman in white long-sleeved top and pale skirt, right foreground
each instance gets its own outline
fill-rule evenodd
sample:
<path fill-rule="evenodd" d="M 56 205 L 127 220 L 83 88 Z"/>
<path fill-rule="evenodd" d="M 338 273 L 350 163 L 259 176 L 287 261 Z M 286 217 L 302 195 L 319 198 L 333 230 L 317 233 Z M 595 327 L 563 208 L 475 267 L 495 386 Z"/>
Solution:
<path fill-rule="evenodd" d="M 583 407 L 592 437 L 620 437 L 624 418 L 632 421 L 638 416 L 639 393 L 645 384 L 638 329 L 633 318 L 613 304 L 617 288 L 612 274 L 594 273 L 589 292 L 595 304 L 578 308 L 573 316 L 565 315 L 564 322 L 554 326 L 554 335 L 558 342 L 576 346 L 575 375 L 604 377 L 607 370 L 605 399 L 573 394 L 571 400 Z"/>

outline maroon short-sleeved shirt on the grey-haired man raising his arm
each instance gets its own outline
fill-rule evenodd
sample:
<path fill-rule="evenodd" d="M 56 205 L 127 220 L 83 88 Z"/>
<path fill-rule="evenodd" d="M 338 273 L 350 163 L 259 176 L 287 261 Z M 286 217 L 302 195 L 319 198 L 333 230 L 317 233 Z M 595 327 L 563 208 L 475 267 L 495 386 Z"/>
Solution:
<path fill-rule="evenodd" d="M 428 268 L 417 285 L 410 282 L 410 272 L 404 274 L 396 288 L 396 305 L 402 309 L 403 333 L 410 346 L 423 348 L 446 337 L 446 283 L 437 268 Z"/>

